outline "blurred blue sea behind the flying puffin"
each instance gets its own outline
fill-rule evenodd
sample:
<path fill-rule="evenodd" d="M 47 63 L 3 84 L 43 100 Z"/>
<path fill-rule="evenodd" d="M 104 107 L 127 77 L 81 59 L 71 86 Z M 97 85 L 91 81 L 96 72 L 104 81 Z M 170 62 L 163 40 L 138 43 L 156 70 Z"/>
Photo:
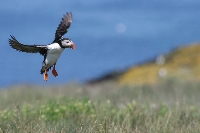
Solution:
<path fill-rule="evenodd" d="M 0 87 L 84 83 L 200 42 L 199 7 L 199 0 L 0 1 Z M 77 49 L 66 49 L 57 62 L 58 77 L 49 72 L 44 82 L 43 57 L 12 49 L 8 38 L 49 44 L 67 11 L 73 22 L 64 37 Z"/>

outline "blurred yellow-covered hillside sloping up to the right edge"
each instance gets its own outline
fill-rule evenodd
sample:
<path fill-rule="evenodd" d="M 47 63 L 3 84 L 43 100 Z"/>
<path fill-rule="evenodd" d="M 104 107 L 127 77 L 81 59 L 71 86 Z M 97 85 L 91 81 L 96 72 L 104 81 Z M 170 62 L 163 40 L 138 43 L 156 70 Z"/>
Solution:
<path fill-rule="evenodd" d="M 154 62 L 134 66 L 119 77 L 121 84 L 154 84 L 164 78 L 200 81 L 200 44 L 180 47 Z"/>

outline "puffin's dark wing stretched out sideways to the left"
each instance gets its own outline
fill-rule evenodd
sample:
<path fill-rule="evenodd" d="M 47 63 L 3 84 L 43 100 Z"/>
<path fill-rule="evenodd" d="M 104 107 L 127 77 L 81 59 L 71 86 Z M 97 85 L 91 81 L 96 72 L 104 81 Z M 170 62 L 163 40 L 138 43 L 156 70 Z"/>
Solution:
<path fill-rule="evenodd" d="M 40 53 L 41 55 L 45 55 L 47 52 L 47 46 L 42 45 L 24 45 L 17 41 L 17 39 L 14 36 L 11 36 L 11 39 L 9 38 L 9 44 L 12 48 L 26 53 Z"/>

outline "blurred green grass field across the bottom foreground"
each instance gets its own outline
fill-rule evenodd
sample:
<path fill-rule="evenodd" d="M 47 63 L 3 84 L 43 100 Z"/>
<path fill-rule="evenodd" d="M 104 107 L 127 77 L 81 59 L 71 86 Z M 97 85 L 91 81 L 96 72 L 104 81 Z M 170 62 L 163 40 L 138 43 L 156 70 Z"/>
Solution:
<path fill-rule="evenodd" d="M 13 86 L 0 90 L 0 132 L 200 132 L 200 83 Z"/>

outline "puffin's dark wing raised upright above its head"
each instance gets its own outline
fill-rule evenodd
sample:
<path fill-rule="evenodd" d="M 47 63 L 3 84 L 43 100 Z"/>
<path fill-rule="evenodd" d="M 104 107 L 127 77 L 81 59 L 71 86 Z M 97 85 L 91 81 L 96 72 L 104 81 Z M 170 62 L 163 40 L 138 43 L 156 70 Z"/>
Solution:
<path fill-rule="evenodd" d="M 63 16 L 62 21 L 60 22 L 60 24 L 56 30 L 54 42 L 58 41 L 64 34 L 67 33 L 71 23 L 72 23 L 72 13 L 67 12 Z"/>

